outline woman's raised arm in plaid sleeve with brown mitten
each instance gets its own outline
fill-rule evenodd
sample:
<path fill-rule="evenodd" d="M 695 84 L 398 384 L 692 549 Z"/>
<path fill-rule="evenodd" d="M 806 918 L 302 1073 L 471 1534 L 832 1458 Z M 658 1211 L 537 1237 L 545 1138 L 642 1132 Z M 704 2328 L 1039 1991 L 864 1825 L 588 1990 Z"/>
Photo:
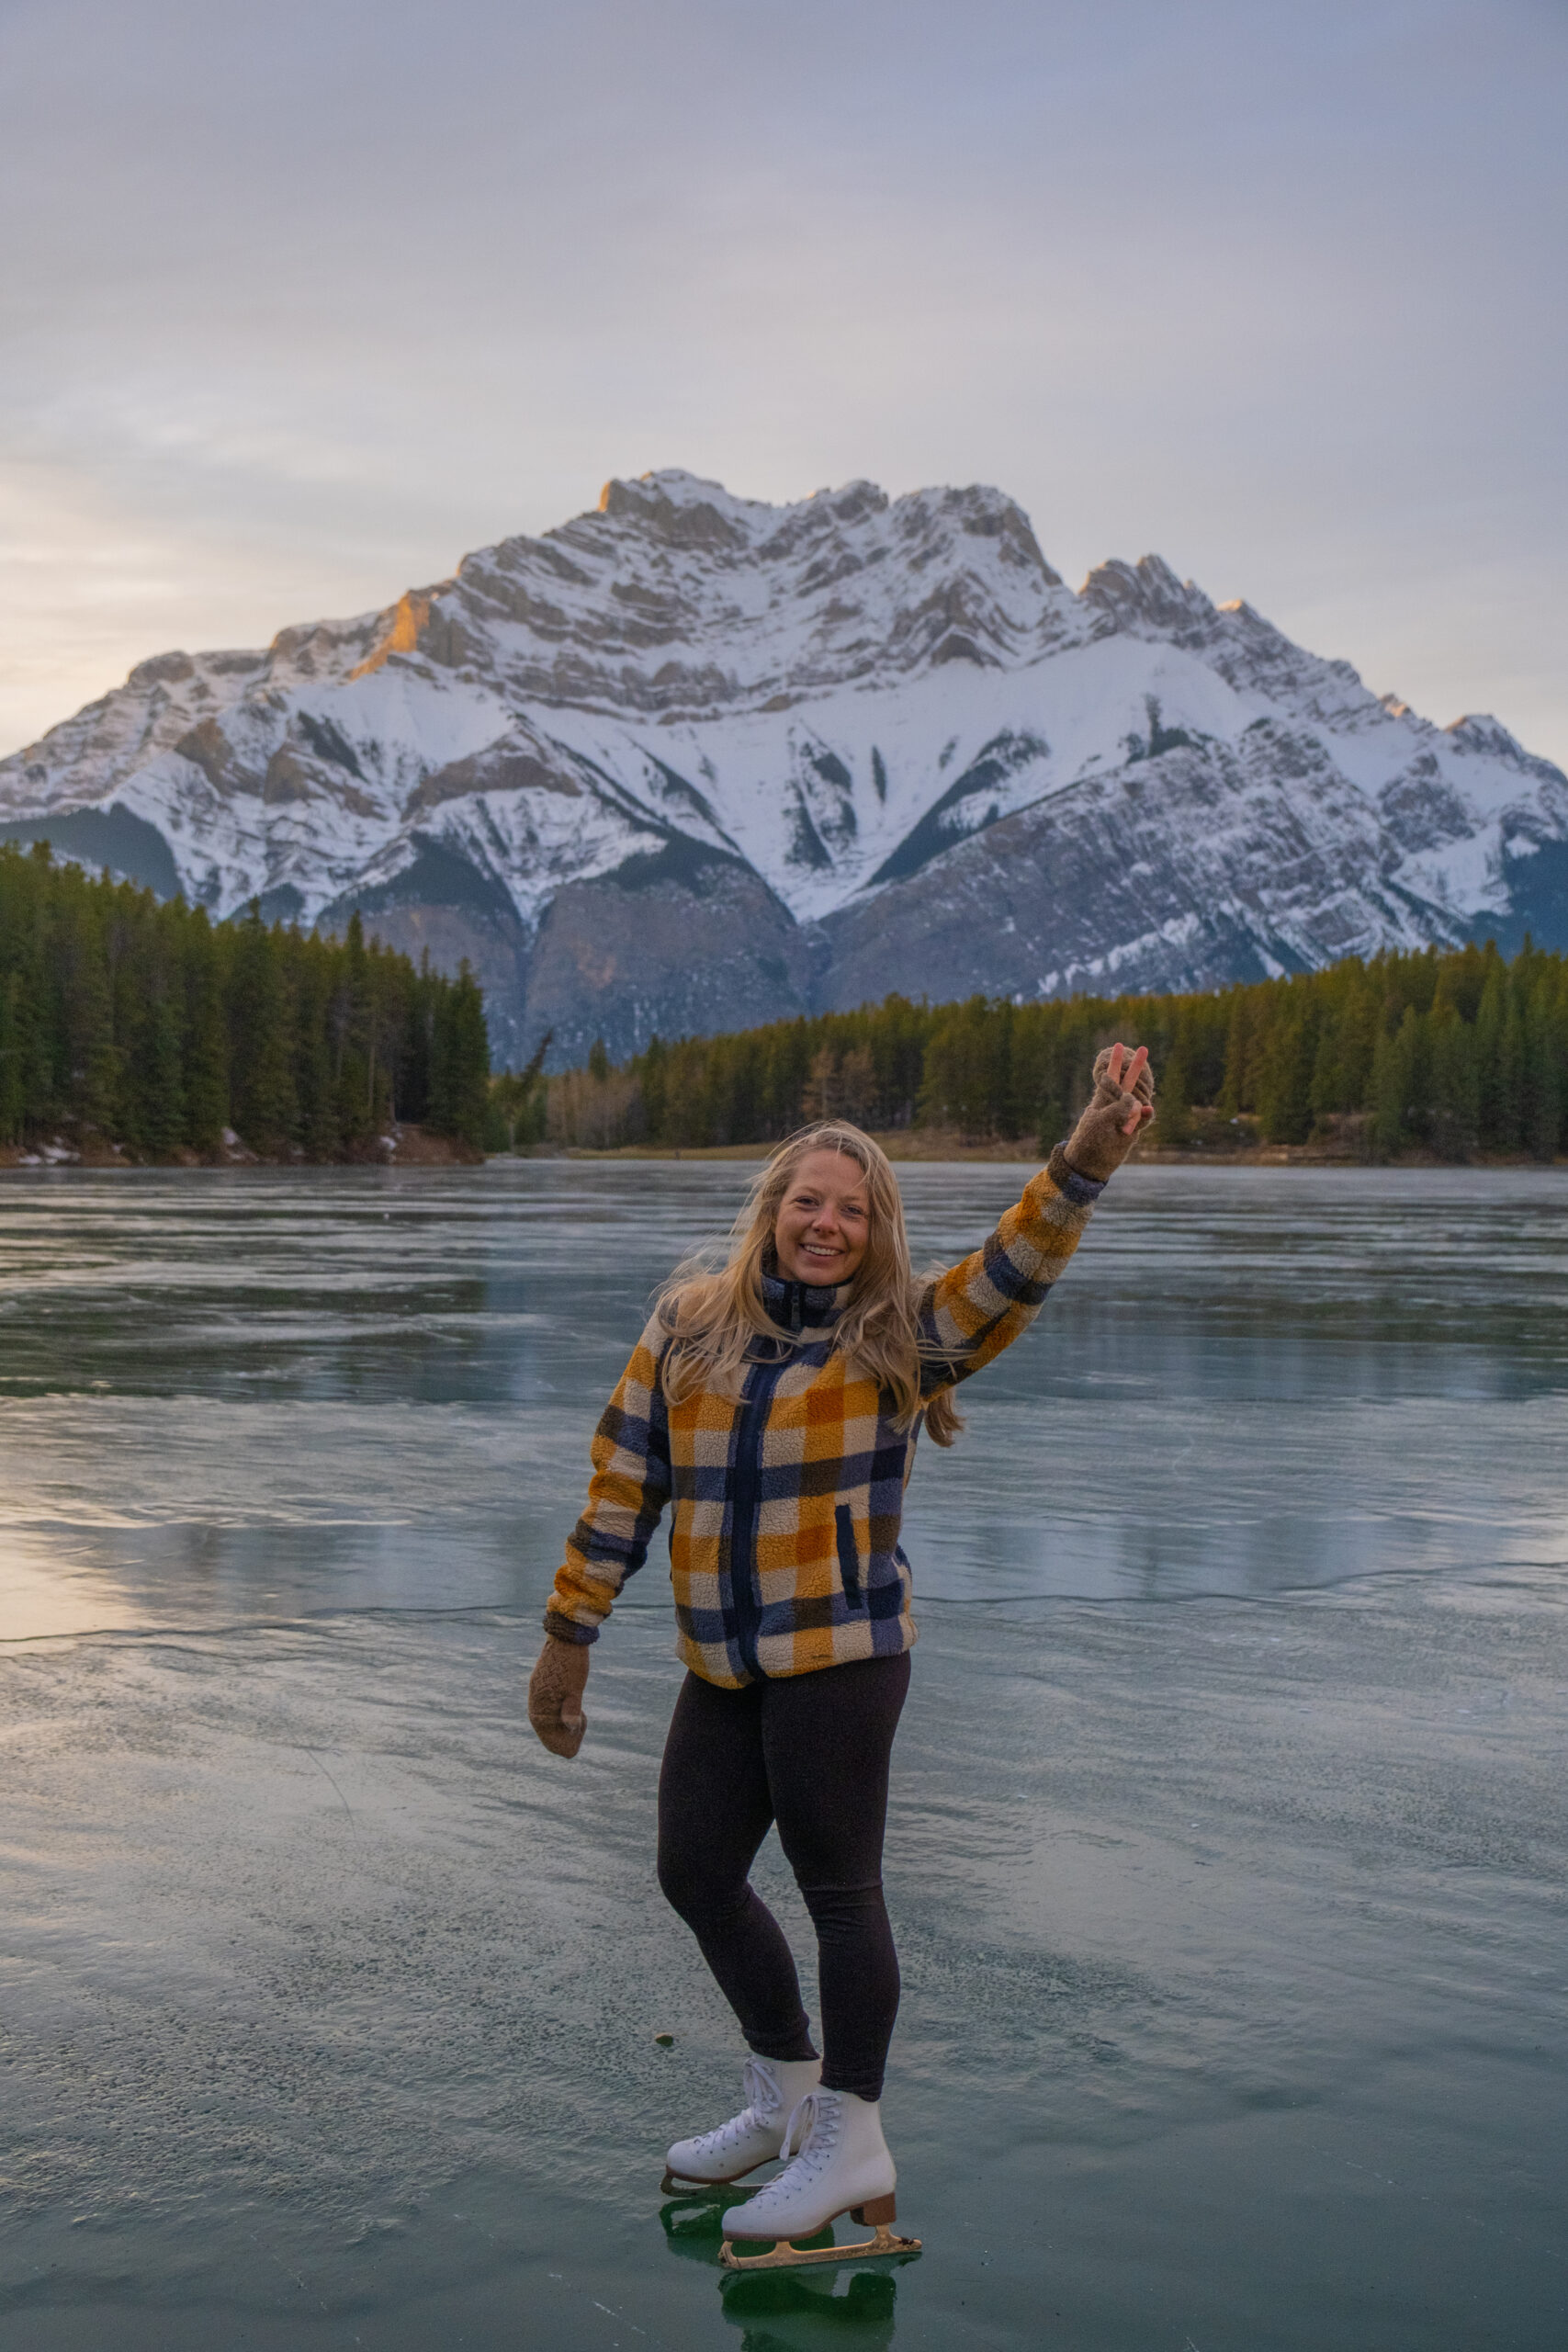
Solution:
<path fill-rule="evenodd" d="M 1067 1270 L 1093 1204 L 1152 1117 L 1154 1080 L 1145 1047 L 1131 1056 L 1121 1044 L 1110 1047 L 1095 1061 L 1093 1101 L 1067 1143 L 1056 1145 L 980 1249 L 926 1287 L 919 1303 L 922 1338 L 931 1350 L 922 1367 L 926 1395 L 966 1381 L 1030 1329 L 1051 1284 Z"/>

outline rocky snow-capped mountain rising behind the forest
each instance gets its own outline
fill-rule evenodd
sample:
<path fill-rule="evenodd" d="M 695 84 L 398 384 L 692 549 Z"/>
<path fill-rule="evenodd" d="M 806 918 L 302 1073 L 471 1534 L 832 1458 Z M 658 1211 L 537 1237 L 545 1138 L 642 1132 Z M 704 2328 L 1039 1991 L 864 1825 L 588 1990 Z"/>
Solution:
<path fill-rule="evenodd" d="M 689 473 L 266 654 L 160 654 L 0 762 L 0 837 L 468 955 L 496 1058 L 889 988 L 1201 988 L 1526 924 L 1568 779 L 997 489 Z"/>

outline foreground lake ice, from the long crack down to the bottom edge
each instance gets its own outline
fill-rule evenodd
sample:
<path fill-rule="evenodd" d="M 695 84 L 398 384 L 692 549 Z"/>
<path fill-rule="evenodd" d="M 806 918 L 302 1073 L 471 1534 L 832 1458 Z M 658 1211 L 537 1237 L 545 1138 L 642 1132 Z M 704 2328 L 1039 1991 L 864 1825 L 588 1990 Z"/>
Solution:
<path fill-rule="evenodd" d="M 7 2352 L 1427 2352 L 1472 2310 L 1559 2352 L 1566 1623 L 1549 1578 L 931 1611 L 886 2093 L 926 2256 L 733 2281 L 658 2194 L 736 2070 L 654 1889 L 661 1621 L 571 1766 L 515 1616 L 12 1649 Z"/>

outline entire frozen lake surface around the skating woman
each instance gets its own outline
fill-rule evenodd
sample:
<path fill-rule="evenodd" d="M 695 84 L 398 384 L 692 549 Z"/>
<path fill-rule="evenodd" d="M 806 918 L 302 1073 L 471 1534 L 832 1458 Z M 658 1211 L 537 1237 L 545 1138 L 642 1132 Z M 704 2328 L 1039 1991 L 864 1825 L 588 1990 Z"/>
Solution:
<path fill-rule="evenodd" d="M 917 1258 L 1023 1174 L 903 1169 Z M 7 2347 L 1561 2352 L 1568 1176 L 1124 1171 L 922 1449 L 929 2251 L 783 2281 L 658 2197 L 736 2074 L 651 1875 L 663 1548 L 578 1762 L 522 1710 L 743 1178 L 0 1178 Z"/>

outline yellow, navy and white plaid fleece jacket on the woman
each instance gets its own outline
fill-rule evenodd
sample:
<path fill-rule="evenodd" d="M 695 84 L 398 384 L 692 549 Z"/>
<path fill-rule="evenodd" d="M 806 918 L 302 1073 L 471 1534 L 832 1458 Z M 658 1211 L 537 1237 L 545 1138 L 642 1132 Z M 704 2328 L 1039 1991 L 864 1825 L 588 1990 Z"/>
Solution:
<path fill-rule="evenodd" d="M 926 1395 L 1027 1331 L 1103 1190 L 1058 1145 L 992 1237 L 926 1284 Z M 912 1646 L 898 1529 L 919 1421 L 893 1428 L 891 1399 L 832 1345 L 835 1291 L 766 1277 L 766 1303 L 799 1336 L 759 1343 L 741 1397 L 701 1388 L 670 1404 L 670 1334 L 654 1317 L 637 1341 L 595 1430 L 588 1508 L 555 1578 L 545 1628 L 557 1639 L 597 1639 L 672 1505 L 677 1649 L 703 1682 L 733 1691 Z"/>

